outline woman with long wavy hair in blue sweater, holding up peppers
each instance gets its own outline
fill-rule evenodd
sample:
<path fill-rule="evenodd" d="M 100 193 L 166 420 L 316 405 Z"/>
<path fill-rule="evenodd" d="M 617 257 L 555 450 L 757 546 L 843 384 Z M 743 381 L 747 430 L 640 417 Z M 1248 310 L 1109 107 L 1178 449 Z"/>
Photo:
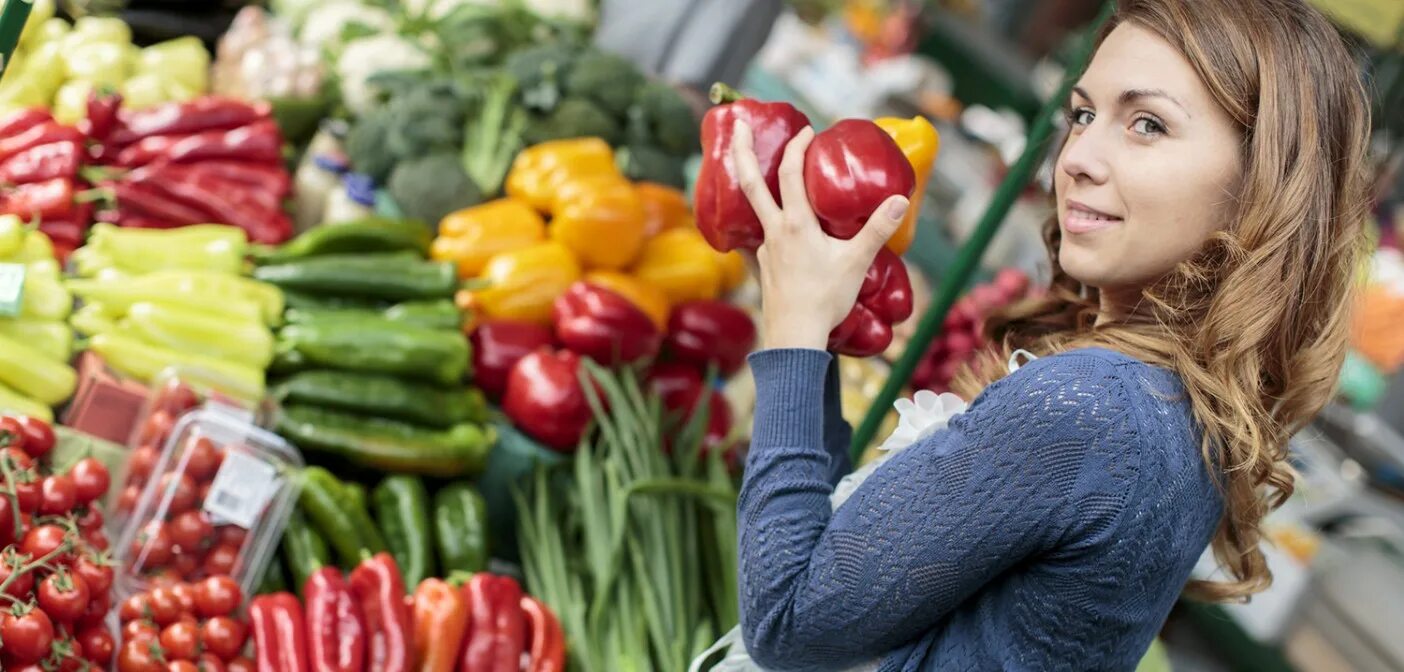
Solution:
<path fill-rule="evenodd" d="M 1287 438 L 1331 396 L 1362 251 L 1352 59 L 1304 0 L 1123 0 L 1067 102 L 1050 292 L 990 320 L 1004 352 L 966 373 L 969 410 L 837 511 L 849 431 L 826 334 L 907 203 L 828 238 L 800 177 L 813 133 L 776 203 L 739 128 L 765 226 L 739 504 L 764 668 L 1130 669 L 1206 546 L 1221 577 L 1191 593 L 1271 582 L 1259 525 L 1292 492 Z M 1007 375 L 1014 349 L 1038 359 Z"/>

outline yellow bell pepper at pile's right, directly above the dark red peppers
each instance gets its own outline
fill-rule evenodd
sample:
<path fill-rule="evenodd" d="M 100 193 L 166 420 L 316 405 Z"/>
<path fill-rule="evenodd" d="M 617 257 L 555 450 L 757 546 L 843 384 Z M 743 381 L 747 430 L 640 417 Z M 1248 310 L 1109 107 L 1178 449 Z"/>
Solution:
<path fill-rule="evenodd" d="M 661 289 L 674 306 L 716 299 L 722 292 L 719 257 L 696 229 L 671 229 L 643 244 L 633 275 Z"/>

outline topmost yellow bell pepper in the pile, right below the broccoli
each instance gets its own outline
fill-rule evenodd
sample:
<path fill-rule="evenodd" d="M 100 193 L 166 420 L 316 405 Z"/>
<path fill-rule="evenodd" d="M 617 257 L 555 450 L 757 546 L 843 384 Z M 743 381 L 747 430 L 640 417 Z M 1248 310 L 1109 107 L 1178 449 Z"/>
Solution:
<path fill-rule="evenodd" d="M 519 198 L 541 212 L 550 212 L 562 184 L 576 177 L 618 175 L 614 150 L 598 137 L 550 140 L 526 147 L 507 173 L 508 196 Z"/>

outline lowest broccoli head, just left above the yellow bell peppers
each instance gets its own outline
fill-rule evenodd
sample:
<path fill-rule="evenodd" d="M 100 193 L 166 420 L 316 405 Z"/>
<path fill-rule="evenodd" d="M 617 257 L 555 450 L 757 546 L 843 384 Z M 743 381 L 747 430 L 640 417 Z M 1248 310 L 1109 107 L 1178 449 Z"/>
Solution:
<path fill-rule="evenodd" d="M 463 171 L 458 152 L 437 152 L 395 166 L 388 185 L 406 216 L 435 227 L 445 215 L 483 202 L 483 194 Z"/>

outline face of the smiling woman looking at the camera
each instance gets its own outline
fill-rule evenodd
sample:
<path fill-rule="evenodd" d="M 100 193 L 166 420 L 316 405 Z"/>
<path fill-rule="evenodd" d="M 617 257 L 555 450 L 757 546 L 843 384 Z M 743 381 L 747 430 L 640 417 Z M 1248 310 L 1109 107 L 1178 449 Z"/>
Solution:
<path fill-rule="evenodd" d="M 1139 295 L 1224 226 L 1238 132 L 1189 62 L 1132 24 L 1102 42 L 1070 111 L 1054 173 L 1059 261 L 1104 296 Z"/>

